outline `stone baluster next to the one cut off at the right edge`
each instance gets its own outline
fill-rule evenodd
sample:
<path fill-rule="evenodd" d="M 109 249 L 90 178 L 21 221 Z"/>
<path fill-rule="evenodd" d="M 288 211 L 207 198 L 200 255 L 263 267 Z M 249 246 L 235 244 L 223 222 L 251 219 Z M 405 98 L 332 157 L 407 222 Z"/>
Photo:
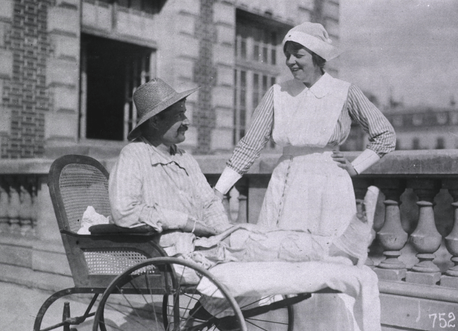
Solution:
<path fill-rule="evenodd" d="M 435 227 L 433 201 L 438 194 L 440 182 L 437 180 L 410 180 L 409 187 L 414 189 L 419 201 L 419 223 L 410 235 L 412 246 L 419 253 L 419 263 L 407 272 L 406 282 L 435 285 L 440 280 L 440 269 L 433 263 L 434 252 L 439 249 L 442 236 Z"/>

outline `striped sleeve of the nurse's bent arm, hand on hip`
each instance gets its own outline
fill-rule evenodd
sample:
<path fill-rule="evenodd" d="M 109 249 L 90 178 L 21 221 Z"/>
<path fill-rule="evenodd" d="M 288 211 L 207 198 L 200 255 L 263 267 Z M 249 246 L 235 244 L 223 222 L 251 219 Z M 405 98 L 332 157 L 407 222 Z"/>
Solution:
<path fill-rule="evenodd" d="M 375 151 L 380 158 L 394 151 L 395 130 L 385 115 L 355 85 L 349 87 L 347 110 L 351 118 L 369 135 L 368 149 Z"/>

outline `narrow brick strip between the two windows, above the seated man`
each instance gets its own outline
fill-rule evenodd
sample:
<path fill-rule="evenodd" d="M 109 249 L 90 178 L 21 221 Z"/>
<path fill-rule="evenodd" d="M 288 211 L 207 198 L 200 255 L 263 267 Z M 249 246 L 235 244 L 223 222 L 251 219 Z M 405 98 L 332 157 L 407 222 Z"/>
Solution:
<path fill-rule="evenodd" d="M 211 93 L 216 82 L 213 66 L 213 44 L 216 42 L 216 27 L 213 23 L 213 4 L 216 0 L 200 0 L 200 15 L 196 25 L 199 39 L 199 59 L 194 63 L 194 82 L 201 87 L 197 96 L 197 107 L 193 122 L 197 127 L 197 154 L 207 154 L 211 149 L 211 131 L 215 127 L 215 111 Z"/>

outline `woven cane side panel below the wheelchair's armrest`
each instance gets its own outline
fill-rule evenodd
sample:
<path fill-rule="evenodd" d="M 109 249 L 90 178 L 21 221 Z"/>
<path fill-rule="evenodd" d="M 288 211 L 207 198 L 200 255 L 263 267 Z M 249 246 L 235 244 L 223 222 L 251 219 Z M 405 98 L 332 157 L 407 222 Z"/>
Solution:
<path fill-rule="evenodd" d="M 146 256 L 129 250 L 85 251 L 89 275 L 119 275 L 124 270 L 147 259 Z M 141 273 L 144 270 L 137 270 Z"/>

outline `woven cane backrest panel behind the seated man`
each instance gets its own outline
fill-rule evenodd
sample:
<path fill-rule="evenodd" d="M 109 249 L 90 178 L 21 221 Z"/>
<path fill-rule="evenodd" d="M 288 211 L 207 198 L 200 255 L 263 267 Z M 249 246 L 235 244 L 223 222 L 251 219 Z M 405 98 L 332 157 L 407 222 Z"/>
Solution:
<path fill-rule="evenodd" d="M 71 163 L 63 167 L 59 187 L 65 206 L 69 230 L 78 232 L 80 220 L 87 206 L 109 216 L 108 180 L 92 165 Z"/>

